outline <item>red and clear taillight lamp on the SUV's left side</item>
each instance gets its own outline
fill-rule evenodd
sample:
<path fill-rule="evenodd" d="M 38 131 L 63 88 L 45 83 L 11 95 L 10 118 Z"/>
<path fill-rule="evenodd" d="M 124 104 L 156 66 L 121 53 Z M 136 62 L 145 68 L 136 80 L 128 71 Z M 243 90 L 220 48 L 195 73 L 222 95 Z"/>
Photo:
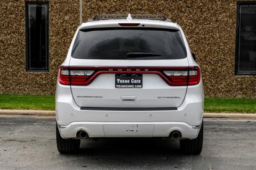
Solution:
<path fill-rule="evenodd" d="M 64 85 L 87 85 L 86 82 L 93 70 L 79 70 L 62 66 L 59 70 L 59 82 Z"/>

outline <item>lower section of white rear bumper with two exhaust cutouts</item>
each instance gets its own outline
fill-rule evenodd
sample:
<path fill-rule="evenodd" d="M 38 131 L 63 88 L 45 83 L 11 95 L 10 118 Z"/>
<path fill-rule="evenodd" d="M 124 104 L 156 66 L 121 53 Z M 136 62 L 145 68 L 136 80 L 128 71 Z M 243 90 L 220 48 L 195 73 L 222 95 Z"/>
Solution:
<path fill-rule="evenodd" d="M 64 138 L 74 138 L 84 130 L 89 137 L 168 137 L 177 130 L 182 138 L 195 139 L 200 126 L 192 127 L 184 122 L 88 122 L 77 121 L 59 125 Z"/>

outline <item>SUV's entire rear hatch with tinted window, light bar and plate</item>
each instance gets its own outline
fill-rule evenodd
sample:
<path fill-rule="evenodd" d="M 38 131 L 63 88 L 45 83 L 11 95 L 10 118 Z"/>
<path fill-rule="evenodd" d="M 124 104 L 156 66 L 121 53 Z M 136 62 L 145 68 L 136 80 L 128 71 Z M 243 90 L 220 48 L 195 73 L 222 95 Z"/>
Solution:
<path fill-rule="evenodd" d="M 71 55 L 62 72 L 71 77 L 80 107 L 179 107 L 186 96 L 188 59 L 180 31 L 84 29 Z"/>

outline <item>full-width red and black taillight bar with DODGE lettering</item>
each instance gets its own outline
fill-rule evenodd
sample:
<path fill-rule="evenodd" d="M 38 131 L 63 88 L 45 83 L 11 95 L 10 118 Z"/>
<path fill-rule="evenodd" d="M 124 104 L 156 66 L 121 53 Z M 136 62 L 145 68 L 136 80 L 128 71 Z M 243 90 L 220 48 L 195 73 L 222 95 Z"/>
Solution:
<path fill-rule="evenodd" d="M 155 73 L 170 86 L 189 86 L 200 82 L 200 68 L 192 67 L 69 67 L 61 66 L 59 82 L 86 86 L 101 73 Z"/>

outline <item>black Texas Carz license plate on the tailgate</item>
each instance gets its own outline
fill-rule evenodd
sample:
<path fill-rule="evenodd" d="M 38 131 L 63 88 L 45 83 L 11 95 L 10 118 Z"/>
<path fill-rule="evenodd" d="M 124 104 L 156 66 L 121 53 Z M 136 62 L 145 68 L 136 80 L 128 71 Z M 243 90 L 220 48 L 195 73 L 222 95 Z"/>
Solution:
<path fill-rule="evenodd" d="M 142 74 L 116 74 L 116 88 L 142 88 Z"/>

